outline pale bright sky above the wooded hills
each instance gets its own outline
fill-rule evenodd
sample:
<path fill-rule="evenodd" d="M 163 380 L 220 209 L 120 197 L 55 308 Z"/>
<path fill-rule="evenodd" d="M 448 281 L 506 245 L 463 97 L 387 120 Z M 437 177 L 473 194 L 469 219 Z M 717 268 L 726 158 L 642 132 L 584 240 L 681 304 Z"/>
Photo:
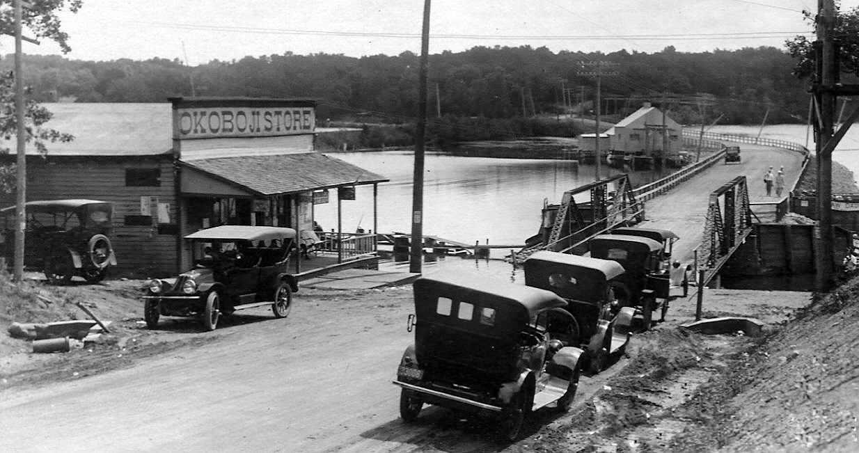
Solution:
<path fill-rule="evenodd" d="M 856 7 L 843 1 L 843 8 Z M 783 48 L 810 36 L 801 11 L 816 0 L 433 0 L 430 53 L 484 46 L 545 46 L 551 51 L 625 49 L 652 53 Z M 288 51 L 366 55 L 420 53 L 423 0 L 83 0 L 63 13 L 70 59 L 211 60 L 282 55 Z M 27 36 L 25 29 L 24 35 Z M 0 53 L 15 51 L 0 38 Z M 25 42 L 29 54 L 58 45 Z"/>

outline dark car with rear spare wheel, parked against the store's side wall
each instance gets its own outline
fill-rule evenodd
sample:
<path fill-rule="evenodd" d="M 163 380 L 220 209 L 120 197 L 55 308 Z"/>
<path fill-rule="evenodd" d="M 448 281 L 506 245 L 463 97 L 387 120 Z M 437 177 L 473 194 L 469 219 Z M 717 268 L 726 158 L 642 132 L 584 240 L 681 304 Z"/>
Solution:
<path fill-rule="evenodd" d="M 110 236 L 113 203 L 98 200 L 27 202 L 24 266 L 45 272 L 52 283 L 69 282 L 79 275 L 90 283 L 101 281 L 116 265 Z M 0 209 L 3 254 L 15 257 L 15 206 Z"/>

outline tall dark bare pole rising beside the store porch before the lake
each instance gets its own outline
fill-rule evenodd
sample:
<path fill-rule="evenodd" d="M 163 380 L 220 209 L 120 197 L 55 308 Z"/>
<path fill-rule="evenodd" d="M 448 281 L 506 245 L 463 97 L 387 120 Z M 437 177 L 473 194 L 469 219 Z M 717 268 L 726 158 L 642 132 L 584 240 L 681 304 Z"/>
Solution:
<path fill-rule="evenodd" d="M 411 249 L 409 272 L 421 273 L 423 261 L 423 148 L 427 130 L 427 75 L 430 72 L 430 0 L 423 0 L 421 60 L 417 78 L 417 128 L 415 130 L 415 172 L 411 189 Z"/>

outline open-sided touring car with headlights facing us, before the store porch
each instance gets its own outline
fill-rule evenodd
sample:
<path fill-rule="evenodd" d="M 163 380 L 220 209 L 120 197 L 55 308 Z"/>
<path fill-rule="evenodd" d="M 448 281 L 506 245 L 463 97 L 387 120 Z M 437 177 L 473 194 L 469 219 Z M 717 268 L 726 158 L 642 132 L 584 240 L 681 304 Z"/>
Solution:
<path fill-rule="evenodd" d="M 185 239 L 196 265 L 176 278 L 146 283 L 143 318 L 149 329 L 161 315 L 200 316 L 208 330 L 217 327 L 221 313 L 247 308 L 271 305 L 275 317 L 289 315 L 292 293 L 298 291 L 287 271 L 295 230 L 224 225 Z"/>

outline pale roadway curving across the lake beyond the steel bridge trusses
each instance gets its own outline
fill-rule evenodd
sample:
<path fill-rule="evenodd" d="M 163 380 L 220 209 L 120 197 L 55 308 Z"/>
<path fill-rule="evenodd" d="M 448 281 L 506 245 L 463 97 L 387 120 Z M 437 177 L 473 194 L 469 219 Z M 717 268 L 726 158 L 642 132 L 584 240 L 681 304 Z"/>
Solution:
<path fill-rule="evenodd" d="M 711 191 L 744 174 L 749 184 L 750 202 L 775 202 L 775 190 L 773 196 L 766 196 L 763 178 L 767 167 L 773 166 L 777 172 L 780 166 L 784 166 L 785 191 L 799 177 L 802 154 L 781 148 L 738 144 L 742 149 L 740 165 L 720 162 L 647 203 L 647 220 L 641 227 L 663 228 L 677 233 L 680 239 L 674 245 L 673 255 L 681 262 L 690 262 L 693 249 L 701 242 Z"/>

